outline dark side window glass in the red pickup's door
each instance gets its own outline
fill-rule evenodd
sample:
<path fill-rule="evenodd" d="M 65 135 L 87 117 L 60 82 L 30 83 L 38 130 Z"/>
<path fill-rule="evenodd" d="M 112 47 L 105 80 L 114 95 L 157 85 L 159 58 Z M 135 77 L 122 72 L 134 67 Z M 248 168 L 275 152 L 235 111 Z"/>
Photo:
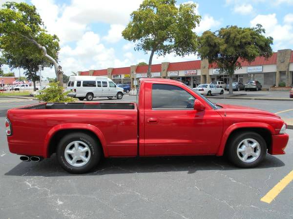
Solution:
<path fill-rule="evenodd" d="M 195 98 L 184 89 L 167 84 L 152 85 L 152 109 L 193 109 Z"/>

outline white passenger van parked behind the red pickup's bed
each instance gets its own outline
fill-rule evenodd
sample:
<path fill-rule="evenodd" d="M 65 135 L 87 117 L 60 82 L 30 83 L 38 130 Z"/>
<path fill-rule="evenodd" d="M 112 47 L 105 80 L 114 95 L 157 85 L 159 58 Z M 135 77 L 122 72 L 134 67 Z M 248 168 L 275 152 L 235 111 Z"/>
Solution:
<path fill-rule="evenodd" d="M 107 77 L 97 76 L 70 76 L 67 84 L 68 96 L 76 97 L 79 100 L 93 100 L 94 97 L 116 97 L 118 100 L 123 97 L 123 88 L 119 88 Z"/>

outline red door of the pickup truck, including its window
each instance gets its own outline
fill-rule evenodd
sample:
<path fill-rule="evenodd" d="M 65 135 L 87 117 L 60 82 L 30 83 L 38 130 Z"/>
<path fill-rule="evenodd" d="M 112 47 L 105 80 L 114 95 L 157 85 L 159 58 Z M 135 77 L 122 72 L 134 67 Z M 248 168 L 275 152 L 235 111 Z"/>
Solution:
<path fill-rule="evenodd" d="M 151 83 L 147 86 L 151 88 L 146 88 L 145 94 L 145 156 L 217 152 L 223 120 L 214 109 L 194 110 L 196 94 L 181 87 Z"/>

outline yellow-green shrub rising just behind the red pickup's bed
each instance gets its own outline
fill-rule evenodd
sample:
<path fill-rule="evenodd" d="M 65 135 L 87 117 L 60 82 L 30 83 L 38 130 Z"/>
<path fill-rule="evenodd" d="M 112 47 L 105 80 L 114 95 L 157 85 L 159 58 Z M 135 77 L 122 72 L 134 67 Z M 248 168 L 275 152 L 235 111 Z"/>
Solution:
<path fill-rule="evenodd" d="M 67 92 L 63 92 L 63 87 L 58 86 L 58 82 L 49 84 L 49 88 L 40 91 L 36 97 L 44 102 L 74 102 L 75 99 L 67 96 Z"/>

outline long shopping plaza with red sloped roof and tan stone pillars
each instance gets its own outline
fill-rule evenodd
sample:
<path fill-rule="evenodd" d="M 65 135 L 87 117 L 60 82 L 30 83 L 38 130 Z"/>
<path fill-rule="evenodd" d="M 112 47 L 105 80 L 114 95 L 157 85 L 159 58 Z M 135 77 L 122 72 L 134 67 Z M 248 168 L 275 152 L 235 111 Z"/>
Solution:
<path fill-rule="evenodd" d="M 242 68 L 235 71 L 233 81 L 247 83 L 249 80 L 258 80 L 264 89 L 278 87 L 280 82 L 284 82 L 286 87 L 293 84 L 293 51 L 290 49 L 278 50 L 268 59 L 256 57 L 251 63 L 241 60 L 240 63 Z M 78 73 L 79 75 L 106 76 L 116 84 L 131 84 L 133 87 L 139 78 L 146 77 L 147 69 L 147 65 L 132 65 Z M 217 65 L 209 63 L 207 59 L 154 64 L 151 66 L 151 76 L 181 81 L 191 88 L 217 80 L 229 83 L 229 76 L 219 73 Z"/>

